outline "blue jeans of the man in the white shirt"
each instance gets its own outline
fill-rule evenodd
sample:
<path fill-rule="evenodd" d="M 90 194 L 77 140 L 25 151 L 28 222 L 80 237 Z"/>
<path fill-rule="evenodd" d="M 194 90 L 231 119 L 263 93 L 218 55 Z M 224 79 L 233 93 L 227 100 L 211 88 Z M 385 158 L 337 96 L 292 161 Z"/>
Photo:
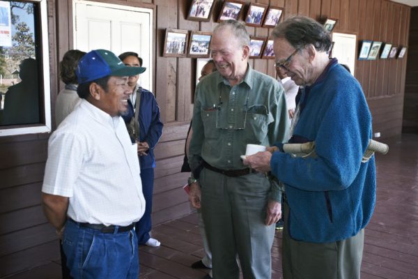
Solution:
<path fill-rule="evenodd" d="M 63 250 L 72 278 L 139 277 L 138 242 L 134 229 L 105 234 L 68 220 L 63 235 Z"/>

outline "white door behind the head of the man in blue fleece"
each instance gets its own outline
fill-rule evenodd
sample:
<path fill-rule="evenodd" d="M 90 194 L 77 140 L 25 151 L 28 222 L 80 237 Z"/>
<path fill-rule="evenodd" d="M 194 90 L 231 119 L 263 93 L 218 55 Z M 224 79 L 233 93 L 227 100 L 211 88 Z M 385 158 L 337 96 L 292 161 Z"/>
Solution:
<path fill-rule="evenodd" d="M 357 36 L 348 33 L 332 33 L 331 55 L 338 59 L 339 63 L 345 64 L 350 68 L 351 75 L 355 74 L 355 50 L 357 49 Z"/>

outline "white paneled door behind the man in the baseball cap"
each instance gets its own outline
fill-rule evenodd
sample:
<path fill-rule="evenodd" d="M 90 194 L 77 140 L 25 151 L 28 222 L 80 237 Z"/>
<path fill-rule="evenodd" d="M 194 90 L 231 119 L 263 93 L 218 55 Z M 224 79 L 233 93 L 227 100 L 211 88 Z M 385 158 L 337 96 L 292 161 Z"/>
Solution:
<path fill-rule="evenodd" d="M 153 10 L 93 1 L 73 1 L 74 48 L 137 52 L 146 71 L 139 77 L 141 86 L 151 88 L 153 74 Z"/>

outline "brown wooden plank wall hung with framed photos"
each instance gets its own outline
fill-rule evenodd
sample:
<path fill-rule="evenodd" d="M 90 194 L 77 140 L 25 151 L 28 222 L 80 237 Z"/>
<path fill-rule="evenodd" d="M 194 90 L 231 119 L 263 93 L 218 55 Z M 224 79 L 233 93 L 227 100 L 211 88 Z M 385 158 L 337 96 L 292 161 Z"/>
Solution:
<path fill-rule="evenodd" d="M 162 57 L 166 28 L 212 31 L 222 0 L 210 22 L 185 20 L 190 0 L 100 0 L 155 9 L 154 88 L 162 112 L 164 135 L 155 155 L 153 222 L 166 222 L 189 213 L 181 186 L 188 174 L 180 173 L 185 135 L 192 116 L 196 60 Z M 408 45 L 410 8 L 387 0 L 251 0 L 285 8 L 284 17 L 295 14 L 336 17 L 334 31 L 357 33 L 358 40 L 382 40 Z M 58 62 L 72 47 L 72 0 L 48 0 L 49 54 L 52 107 L 63 84 Z M 416 26 L 416 24 L 415 24 Z M 253 36 L 267 37 L 271 30 L 248 28 Z M 417 36 L 415 36 L 416 40 Z M 408 54 L 413 54 L 408 50 Z M 416 53 L 415 53 L 416 54 Z M 416 55 L 415 55 L 416 56 Z M 416 60 L 416 59 L 415 59 Z M 382 137 L 400 135 L 407 59 L 357 61 L 355 76 L 362 84 L 373 114 L 375 131 Z M 275 76 L 274 61 L 251 59 L 251 66 Z M 415 63 L 417 64 L 417 63 Z M 416 88 L 416 87 L 415 87 Z M 409 90 L 409 89 L 408 89 Z M 416 92 L 416 90 L 415 90 Z M 52 112 L 54 115 L 54 112 Z M 54 229 L 40 208 L 47 134 L 0 137 L 0 278 L 59 259 Z"/>

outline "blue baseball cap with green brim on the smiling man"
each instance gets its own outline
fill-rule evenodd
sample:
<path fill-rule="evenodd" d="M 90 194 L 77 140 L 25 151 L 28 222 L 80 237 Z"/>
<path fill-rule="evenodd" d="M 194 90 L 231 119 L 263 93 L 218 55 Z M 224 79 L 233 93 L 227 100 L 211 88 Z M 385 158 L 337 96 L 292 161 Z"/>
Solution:
<path fill-rule="evenodd" d="M 129 77 L 144 73 L 142 67 L 128 67 L 109 50 L 92 50 L 84 54 L 75 71 L 79 84 L 98 80 L 101 77 L 113 75 Z"/>

